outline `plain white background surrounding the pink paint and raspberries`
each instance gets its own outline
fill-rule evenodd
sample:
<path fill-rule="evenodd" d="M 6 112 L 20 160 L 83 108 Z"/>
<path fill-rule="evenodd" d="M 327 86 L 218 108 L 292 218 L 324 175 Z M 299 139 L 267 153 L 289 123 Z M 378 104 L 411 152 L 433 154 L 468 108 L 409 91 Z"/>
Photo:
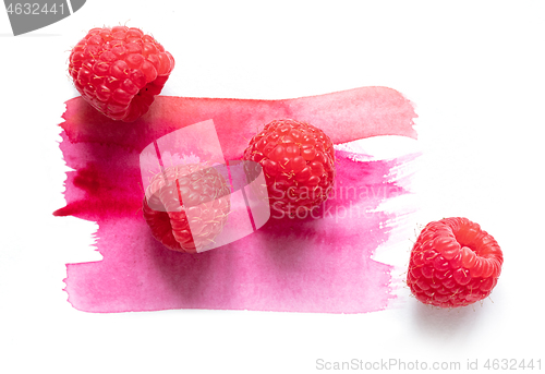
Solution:
<path fill-rule="evenodd" d="M 64 264 L 100 255 L 95 224 L 52 216 L 69 170 L 57 124 L 77 96 L 66 62 L 86 31 L 125 22 L 174 56 L 162 95 L 280 99 L 371 85 L 405 95 L 424 155 L 413 228 L 465 216 L 492 233 L 505 254 L 493 301 L 434 310 L 402 289 L 396 307 L 355 315 L 72 309 Z M 0 11 L 0 372 L 332 372 L 318 359 L 462 369 L 541 359 L 545 370 L 545 2 L 89 0 L 19 37 Z M 409 239 L 391 263 L 407 265 Z"/>

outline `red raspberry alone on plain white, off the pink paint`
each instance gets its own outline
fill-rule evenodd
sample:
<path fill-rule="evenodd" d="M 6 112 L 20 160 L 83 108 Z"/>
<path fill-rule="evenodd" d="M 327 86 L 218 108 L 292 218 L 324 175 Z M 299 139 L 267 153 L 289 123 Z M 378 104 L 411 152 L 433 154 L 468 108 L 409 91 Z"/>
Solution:
<path fill-rule="evenodd" d="M 417 300 L 465 306 L 491 294 L 504 255 L 496 240 L 468 218 L 426 225 L 411 252 L 407 283 Z"/>

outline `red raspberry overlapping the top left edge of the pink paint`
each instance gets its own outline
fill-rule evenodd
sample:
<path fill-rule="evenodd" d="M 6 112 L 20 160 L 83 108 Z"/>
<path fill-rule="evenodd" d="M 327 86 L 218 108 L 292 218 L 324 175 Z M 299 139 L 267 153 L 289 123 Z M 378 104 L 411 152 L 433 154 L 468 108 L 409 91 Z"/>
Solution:
<path fill-rule="evenodd" d="M 174 59 L 140 28 L 93 28 L 70 55 L 70 75 L 82 97 L 102 114 L 132 122 L 145 114 Z"/>

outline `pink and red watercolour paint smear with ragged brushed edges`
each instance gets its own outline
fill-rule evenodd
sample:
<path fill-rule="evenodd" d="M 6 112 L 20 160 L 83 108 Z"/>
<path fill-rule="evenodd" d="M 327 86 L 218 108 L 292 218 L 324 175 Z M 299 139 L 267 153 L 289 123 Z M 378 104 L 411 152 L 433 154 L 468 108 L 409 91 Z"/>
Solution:
<path fill-rule="evenodd" d="M 275 119 L 307 121 L 336 144 L 378 135 L 416 137 L 400 93 L 363 87 L 286 100 L 157 97 L 133 123 L 111 121 L 83 99 L 66 101 L 60 144 L 66 206 L 56 216 L 98 224 L 102 261 L 68 264 L 69 302 L 86 312 L 168 309 L 364 313 L 393 299 L 391 266 L 371 260 L 389 238 L 392 213 L 371 212 L 408 193 L 392 169 L 415 156 L 361 161 L 337 150 L 335 194 L 313 217 L 272 218 L 233 243 L 198 254 L 167 250 L 142 216 L 138 156 L 154 140 L 214 120 L 227 159 Z"/>

